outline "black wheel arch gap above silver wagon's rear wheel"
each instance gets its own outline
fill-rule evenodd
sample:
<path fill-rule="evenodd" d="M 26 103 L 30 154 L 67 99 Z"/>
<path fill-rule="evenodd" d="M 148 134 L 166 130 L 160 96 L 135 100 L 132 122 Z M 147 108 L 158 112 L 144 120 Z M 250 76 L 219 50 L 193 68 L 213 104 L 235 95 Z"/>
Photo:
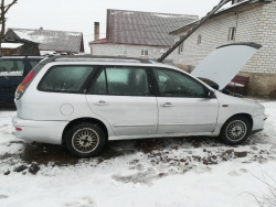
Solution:
<path fill-rule="evenodd" d="M 62 144 L 64 144 L 65 134 L 68 131 L 68 129 L 71 129 L 71 127 L 73 127 L 77 123 L 82 123 L 82 122 L 96 123 L 97 126 L 99 126 L 104 130 L 106 141 L 108 140 L 108 129 L 103 121 L 100 121 L 98 119 L 94 119 L 94 118 L 83 117 L 83 118 L 74 119 L 66 124 L 66 127 L 64 128 L 63 133 L 62 133 Z"/>

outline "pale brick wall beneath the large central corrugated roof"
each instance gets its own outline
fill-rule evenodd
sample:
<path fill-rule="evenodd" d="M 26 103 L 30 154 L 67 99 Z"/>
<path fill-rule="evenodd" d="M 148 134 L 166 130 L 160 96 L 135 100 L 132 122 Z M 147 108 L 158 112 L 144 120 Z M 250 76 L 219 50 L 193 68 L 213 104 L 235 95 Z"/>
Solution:
<path fill-rule="evenodd" d="M 126 46 L 127 54 L 120 54 L 121 45 L 119 44 L 92 44 L 93 55 L 110 55 L 110 56 L 126 56 L 126 57 L 147 57 L 147 58 L 158 58 L 166 52 L 169 47 L 155 47 L 155 46 L 137 46 L 137 45 L 124 45 Z M 141 48 L 148 48 L 148 56 L 141 55 Z M 172 55 L 168 59 L 172 59 Z"/>

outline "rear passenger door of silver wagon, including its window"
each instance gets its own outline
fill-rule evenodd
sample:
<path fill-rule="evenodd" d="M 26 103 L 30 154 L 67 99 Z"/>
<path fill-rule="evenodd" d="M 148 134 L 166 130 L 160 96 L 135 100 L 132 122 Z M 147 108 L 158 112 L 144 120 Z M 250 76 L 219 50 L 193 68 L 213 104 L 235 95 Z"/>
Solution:
<path fill-rule="evenodd" d="M 87 102 L 116 135 L 156 134 L 157 99 L 148 77 L 144 67 L 106 66 L 95 78 Z"/>

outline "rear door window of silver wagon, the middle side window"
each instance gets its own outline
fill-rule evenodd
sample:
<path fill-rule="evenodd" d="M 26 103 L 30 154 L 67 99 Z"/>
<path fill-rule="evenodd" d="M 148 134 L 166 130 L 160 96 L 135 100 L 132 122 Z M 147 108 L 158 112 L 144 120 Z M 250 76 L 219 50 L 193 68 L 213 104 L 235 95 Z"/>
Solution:
<path fill-rule="evenodd" d="M 96 95 L 150 96 L 147 70 L 139 67 L 107 66 L 96 79 L 92 91 Z"/>

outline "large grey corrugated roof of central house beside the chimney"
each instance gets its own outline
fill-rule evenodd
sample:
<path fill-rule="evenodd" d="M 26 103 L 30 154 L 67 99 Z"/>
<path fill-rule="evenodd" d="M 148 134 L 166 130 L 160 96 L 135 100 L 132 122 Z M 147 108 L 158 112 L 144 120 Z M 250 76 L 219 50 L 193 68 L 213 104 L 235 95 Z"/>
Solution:
<path fill-rule="evenodd" d="M 107 42 L 170 46 L 173 29 L 199 20 L 198 15 L 107 10 Z"/>

